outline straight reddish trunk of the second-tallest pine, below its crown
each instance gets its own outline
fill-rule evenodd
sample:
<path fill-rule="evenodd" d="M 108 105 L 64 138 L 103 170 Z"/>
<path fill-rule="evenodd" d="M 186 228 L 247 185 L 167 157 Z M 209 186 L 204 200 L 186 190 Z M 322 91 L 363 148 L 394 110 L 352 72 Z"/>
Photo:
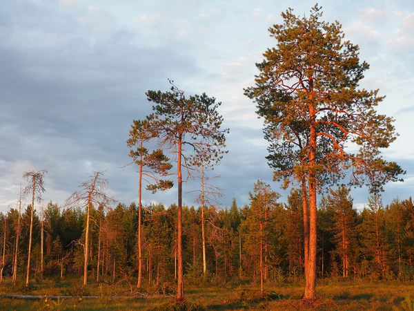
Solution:
<path fill-rule="evenodd" d="M 177 211 L 177 229 L 178 229 L 178 280 L 177 280 L 177 300 L 184 300 L 184 275 L 183 275 L 183 248 L 182 248 L 182 193 L 183 182 L 181 176 L 181 138 L 178 142 L 177 150 L 177 179 L 178 179 L 178 211 Z"/>

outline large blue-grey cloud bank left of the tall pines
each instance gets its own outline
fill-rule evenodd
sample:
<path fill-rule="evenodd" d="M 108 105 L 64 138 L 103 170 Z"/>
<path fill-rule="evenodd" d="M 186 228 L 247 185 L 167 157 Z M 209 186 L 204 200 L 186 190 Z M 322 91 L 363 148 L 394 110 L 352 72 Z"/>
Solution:
<path fill-rule="evenodd" d="M 92 169 L 107 171 L 113 191 L 125 190 L 135 172 L 118 167 L 128 162 L 132 120 L 151 111 L 145 91 L 166 90 L 167 77 L 196 75 L 200 69 L 168 42 L 135 44 L 137 34 L 130 30 L 120 28 L 92 42 L 77 31 L 75 19 L 52 4 L 10 1 L 6 12 L 11 18 L 0 25 L 7 43 L 0 47 L 0 157 L 6 162 L 0 174 L 29 160 L 33 169 L 49 170 L 46 185 L 54 191 L 75 191 Z M 17 28 L 62 38 L 47 47 L 17 45 L 11 38 Z M 129 199 L 135 198 L 132 192 Z"/>

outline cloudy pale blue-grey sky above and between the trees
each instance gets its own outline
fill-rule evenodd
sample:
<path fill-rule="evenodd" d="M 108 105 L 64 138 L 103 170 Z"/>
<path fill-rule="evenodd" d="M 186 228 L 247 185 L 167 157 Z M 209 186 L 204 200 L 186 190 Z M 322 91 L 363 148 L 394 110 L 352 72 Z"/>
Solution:
<path fill-rule="evenodd" d="M 207 93 L 219 112 L 228 154 L 215 168 L 221 207 L 233 198 L 248 204 L 259 179 L 286 202 L 288 191 L 273 182 L 265 156 L 263 120 L 243 95 L 253 86 L 266 48 L 268 28 L 282 23 L 288 6 L 308 16 L 313 1 L 246 0 L 13 0 L 0 10 L 0 211 L 19 197 L 24 171 L 47 169 L 44 202 L 59 205 L 92 171 L 105 171 L 108 194 L 137 200 L 137 167 L 128 157 L 133 120 L 151 112 L 148 90 L 168 91 L 168 79 L 188 94 Z M 346 39 L 371 68 L 361 86 L 380 88 L 380 113 L 395 118 L 400 136 L 384 150 L 406 170 L 404 182 L 388 183 L 384 204 L 414 189 L 414 3 L 320 1 L 324 20 L 342 23 Z M 184 185 L 184 203 L 198 180 Z M 357 208 L 366 188 L 353 189 Z M 177 202 L 177 188 L 144 191 L 144 203 Z"/>

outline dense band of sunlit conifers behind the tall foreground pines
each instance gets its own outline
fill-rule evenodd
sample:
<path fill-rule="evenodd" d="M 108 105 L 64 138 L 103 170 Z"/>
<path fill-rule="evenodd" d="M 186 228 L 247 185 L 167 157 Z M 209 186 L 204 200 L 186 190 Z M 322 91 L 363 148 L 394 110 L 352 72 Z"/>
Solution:
<path fill-rule="evenodd" d="M 250 205 L 228 209 L 204 207 L 206 264 L 203 274 L 201 208 L 183 207 L 183 255 L 186 283 L 260 279 L 260 245 L 263 245 L 264 279 L 272 283 L 297 280 L 304 272 L 302 193 L 290 191 L 287 203 L 254 192 Z M 266 202 L 265 202 L 265 201 Z M 83 275 L 86 211 L 48 202 L 35 206 L 31 275 L 66 278 Z M 92 206 L 90 218 L 89 278 L 137 278 L 137 205 L 119 203 L 114 208 Z M 14 252 L 19 210 L 0 214 L 3 277 L 26 274 L 30 227 L 28 205 L 21 211 L 17 261 Z M 414 276 L 414 205 L 411 198 L 395 198 L 382 205 L 378 195 L 362 210 L 353 207 L 350 189 L 330 189 L 318 211 L 317 273 L 323 278 L 400 279 Z M 177 277 L 177 206 L 144 207 L 143 284 L 166 286 Z M 99 264 L 98 264 L 99 261 Z"/>

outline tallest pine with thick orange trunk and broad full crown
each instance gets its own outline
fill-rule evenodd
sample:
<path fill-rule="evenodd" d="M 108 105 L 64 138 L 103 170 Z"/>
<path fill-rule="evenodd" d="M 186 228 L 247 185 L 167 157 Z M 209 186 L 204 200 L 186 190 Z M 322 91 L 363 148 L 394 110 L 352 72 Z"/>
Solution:
<path fill-rule="evenodd" d="M 304 299 L 316 298 L 317 190 L 351 170 L 351 183 L 380 191 L 403 173 L 395 162 L 381 157 L 380 148 L 395 140 L 393 119 L 375 107 L 384 97 L 358 88 L 369 68 L 360 63 L 358 46 L 344 40 L 339 22 L 321 21 L 317 5 L 309 17 L 282 13 L 284 23 L 269 29 L 277 40 L 257 64 L 260 73 L 246 95 L 255 100 L 271 142 L 275 180 L 285 186 L 307 182 L 309 245 L 305 263 Z M 346 144 L 359 145 L 358 153 Z M 305 218 L 306 219 L 306 218 Z"/>

